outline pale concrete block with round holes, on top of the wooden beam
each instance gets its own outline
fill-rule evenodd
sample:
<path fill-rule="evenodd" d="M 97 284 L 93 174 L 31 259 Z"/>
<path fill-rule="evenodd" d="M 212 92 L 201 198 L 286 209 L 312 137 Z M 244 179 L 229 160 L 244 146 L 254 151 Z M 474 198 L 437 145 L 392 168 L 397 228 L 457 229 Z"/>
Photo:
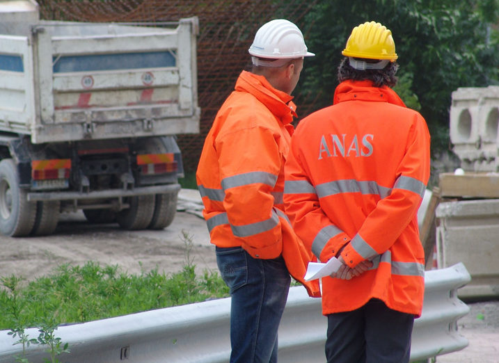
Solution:
<path fill-rule="evenodd" d="M 465 171 L 498 171 L 498 120 L 499 86 L 452 92 L 450 140 Z"/>

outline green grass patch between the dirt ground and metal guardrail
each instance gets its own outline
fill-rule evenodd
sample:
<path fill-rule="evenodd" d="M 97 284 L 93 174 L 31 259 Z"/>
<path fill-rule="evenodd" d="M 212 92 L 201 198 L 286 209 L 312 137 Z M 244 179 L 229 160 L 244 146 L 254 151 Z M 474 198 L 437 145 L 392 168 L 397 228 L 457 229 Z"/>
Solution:
<path fill-rule="evenodd" d="M 118 266 L 88 261 L 84 266 L 63 264 L 32 282 L 15 275 L 0 277 L 0 330 L 84 323 L 227 297 L 228 287 L 218 272 L 196 275 L 191 236 L 182 234 L 186 248 L 179 273 L 153 269 L 132 275 Z"/>

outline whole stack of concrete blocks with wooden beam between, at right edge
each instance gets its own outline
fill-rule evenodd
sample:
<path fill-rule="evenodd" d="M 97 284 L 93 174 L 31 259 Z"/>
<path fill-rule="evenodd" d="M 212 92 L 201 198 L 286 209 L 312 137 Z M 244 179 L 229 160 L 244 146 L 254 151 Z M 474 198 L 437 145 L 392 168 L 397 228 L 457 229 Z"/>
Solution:
<path fill-rule="evenodd" d="M 464 173 L 440 175 L 436 250 L 438 268 L 468 268 L 472 282 L 461 298 L 499 296 L 498 126 L 498 86 L 452 92 L 450 140 Z"/>

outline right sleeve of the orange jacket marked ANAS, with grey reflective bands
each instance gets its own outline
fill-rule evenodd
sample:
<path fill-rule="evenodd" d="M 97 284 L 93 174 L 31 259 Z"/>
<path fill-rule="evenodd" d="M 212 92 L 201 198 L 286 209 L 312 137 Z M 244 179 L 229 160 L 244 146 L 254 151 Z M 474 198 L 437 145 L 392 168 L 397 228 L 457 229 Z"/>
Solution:
<path fill-rule="evenodd" d="M 415 218 L 429 179 L 429 160 L 429 132 L 416 114 L 390 195 L 377 203 L 341 253 L 350 267 L 388 250 Z"/>

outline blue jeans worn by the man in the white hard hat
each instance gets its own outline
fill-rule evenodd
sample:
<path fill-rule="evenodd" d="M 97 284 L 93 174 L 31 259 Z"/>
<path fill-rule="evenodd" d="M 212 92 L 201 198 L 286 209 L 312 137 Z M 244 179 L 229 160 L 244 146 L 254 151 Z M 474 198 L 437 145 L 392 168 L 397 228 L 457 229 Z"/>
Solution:
<path fill-rule="evenodd" d="M 283 257 L 254 259 L 243 248 L 216 248 L 230 289 L 230 362 L 277 362 L 277 330 L 290 290 Z"/>

